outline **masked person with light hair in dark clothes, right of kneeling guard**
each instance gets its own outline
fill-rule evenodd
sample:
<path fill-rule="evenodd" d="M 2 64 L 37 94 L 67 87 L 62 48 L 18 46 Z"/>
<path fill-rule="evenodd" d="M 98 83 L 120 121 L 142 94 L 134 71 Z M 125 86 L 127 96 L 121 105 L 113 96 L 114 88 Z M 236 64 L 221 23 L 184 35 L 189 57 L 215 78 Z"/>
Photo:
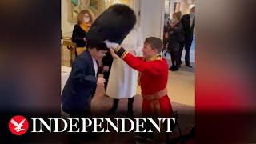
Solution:
<path fill-rule="evenodd" d="M 184 35 L 182 34 L 182 23 L 180 22 L 181 17 L 181 11 L 173 14 L 172 23 L 170 24 L 168 32 L 165 34 L 165 38 L 168 39 L 167 50 L 170 52 L 170 58 L 172 62 L 170 70 L 172 71 L 178 70 L 178 54 L 180 43 L 184 40 Z"/>

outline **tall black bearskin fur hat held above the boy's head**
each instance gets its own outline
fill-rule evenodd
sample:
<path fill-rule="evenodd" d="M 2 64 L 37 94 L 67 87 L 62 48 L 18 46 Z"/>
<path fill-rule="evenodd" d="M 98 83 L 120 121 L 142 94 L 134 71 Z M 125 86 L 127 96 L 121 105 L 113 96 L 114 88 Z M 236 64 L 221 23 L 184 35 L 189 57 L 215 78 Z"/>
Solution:
<path fill-rule="evenodd" d="M 105 10 L 90 26 L 87 42 L 94 45 L 108 39 L 110 42 L 121 44 L 135 23 L 134 10 L 126 5 L 115 4 Z"/>

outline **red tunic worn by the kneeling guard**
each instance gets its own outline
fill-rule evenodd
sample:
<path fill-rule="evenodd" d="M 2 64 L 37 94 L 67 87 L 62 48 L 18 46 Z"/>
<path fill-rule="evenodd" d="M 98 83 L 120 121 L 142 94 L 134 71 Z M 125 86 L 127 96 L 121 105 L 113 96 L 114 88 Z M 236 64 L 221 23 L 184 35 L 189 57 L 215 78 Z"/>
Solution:
<path fill-rule="evenodd" d="M 132 54 L 126 54 L 123 60 L 135 70 L 141 73 L 140 85 L 142 89 L 142 95 L 155 94 L 158 91 L 164 90 L 167 86 L 168 80 L 168 65 L 164 58 L 158 58 L 158 60 L 144 61 L 140 57 L 134 57 Z M 142 102 L 142 117 L 152 118 L 158 115 L 158 118 L 171 118 L 173 110 L 170 104 L 168 95 L 162 95 L 158 100 L 160 104 L 160 114 L 156 114 L 152 110 L 152 101 L 143 98 Z"/>

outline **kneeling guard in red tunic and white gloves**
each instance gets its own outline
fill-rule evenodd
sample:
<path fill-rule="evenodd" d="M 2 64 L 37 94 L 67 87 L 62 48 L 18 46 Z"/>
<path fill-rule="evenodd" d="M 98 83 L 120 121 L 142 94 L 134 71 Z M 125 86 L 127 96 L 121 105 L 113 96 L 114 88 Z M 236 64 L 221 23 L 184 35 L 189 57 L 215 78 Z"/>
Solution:
<path fill-rule="evenodd" d="M 142 118 L 171 118 L 173 110 L 167 95 L 168 65 L 161 57 L 160 38 L 146 38 L 142 49 L 143 58 L 134 57 L 118 43 L 105 41 L 129 66 L 138 70 L 139 85 L 142 89 Z"/>

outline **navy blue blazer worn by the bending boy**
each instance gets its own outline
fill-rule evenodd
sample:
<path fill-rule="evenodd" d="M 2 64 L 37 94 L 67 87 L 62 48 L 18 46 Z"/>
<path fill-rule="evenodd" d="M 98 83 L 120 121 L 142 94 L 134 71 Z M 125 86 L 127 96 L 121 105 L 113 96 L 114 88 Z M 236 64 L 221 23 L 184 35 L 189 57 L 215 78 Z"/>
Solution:
<path fill-rule="evenodd" d="M 102 72 L 102 67 L 98 66 L 98 72 Z M 90 99 L 95 93 L 97 80 L 98 74 L 95 77 L 90 52 L 84 50 L 75 58 L 70 77 L 62 91 L 62 110 L 68 114 L 83 113 L 89 110 Z"/>

